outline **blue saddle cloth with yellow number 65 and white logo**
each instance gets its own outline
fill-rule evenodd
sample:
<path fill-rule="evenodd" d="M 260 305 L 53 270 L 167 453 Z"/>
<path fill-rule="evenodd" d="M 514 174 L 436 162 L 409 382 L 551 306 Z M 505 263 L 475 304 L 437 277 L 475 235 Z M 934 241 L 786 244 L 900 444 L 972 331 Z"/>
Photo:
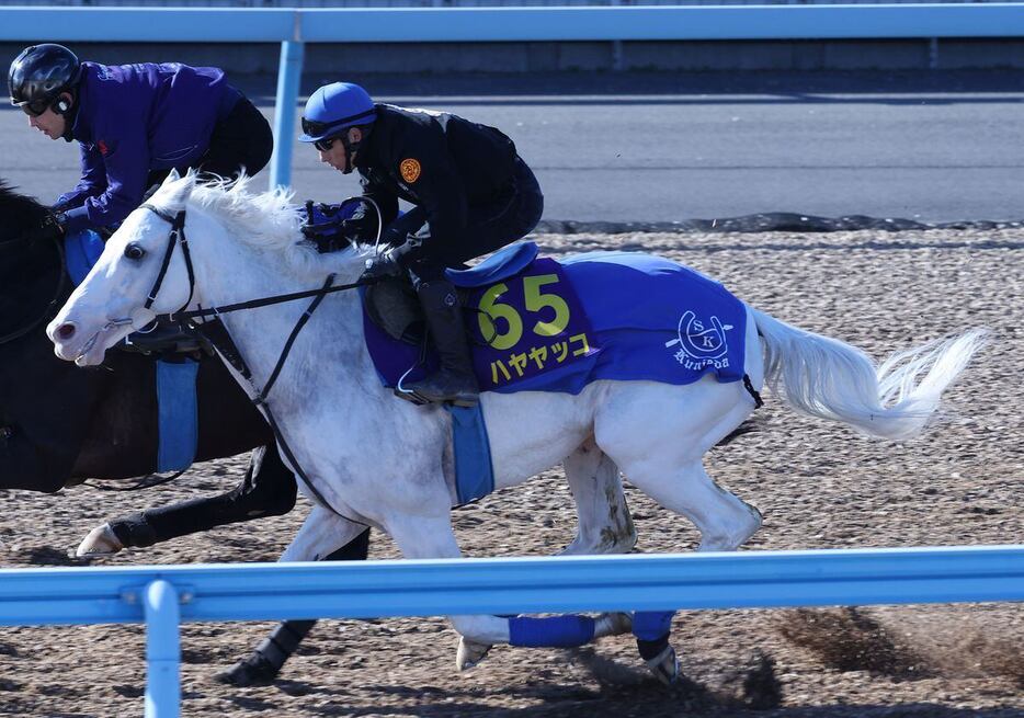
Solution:
<path fill-rule="evenodd" d="M 590 252 L 559 261 L 522 242 L 480 265 L 448 271 L 485 391 L 579 394 L 596 379 L 691 384 L 743 378 L 747 311 L 719 283 L 649 254 Z M 364 307 L 371 356 L 385 386 L 436 366 L 392 339 Z M 411 371 L 410 371 L 411 368 Z"/>

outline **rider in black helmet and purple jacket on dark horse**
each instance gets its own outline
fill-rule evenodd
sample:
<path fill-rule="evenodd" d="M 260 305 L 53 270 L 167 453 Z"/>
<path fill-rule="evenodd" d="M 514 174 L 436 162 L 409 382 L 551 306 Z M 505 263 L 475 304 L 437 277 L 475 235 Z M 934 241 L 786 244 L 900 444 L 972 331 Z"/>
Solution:
<path fill-rule="evenodd" d="M 273 149 L 266 119 L 213 67 L 79 62 L 45 44 L 18 56 L 8 84 L 33 127 L 81 144 L 81 180 L 55 206 L 65 231 L 120 223 L 171 169 L 255 174 Z"/>

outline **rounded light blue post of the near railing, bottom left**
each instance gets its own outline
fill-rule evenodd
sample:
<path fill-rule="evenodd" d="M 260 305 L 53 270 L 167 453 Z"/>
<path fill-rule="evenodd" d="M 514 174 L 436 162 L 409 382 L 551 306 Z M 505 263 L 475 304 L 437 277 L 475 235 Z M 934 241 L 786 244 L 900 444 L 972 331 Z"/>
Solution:
<path fill-rule="evenodd" d="M 163 579 L 146 586 L 146 718 L 178 718 L 181 715 L 181 618 L 178 591 Z"/>

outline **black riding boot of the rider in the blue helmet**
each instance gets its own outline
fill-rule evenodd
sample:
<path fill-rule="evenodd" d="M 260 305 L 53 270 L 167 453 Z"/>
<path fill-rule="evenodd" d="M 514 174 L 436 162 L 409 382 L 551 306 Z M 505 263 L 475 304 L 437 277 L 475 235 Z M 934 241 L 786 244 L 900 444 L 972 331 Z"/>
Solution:
<path fill-rule="evenodd" d="M 451 401 L 456 407 L 475 406 L 480 399 L 480 387 L 473 372 L 469 341 L 455 287 L 444 280 L 424 282 L 417 295 L 441 357 L 441 368 L 413 381 L 408 389 L 424 401 Z"/>

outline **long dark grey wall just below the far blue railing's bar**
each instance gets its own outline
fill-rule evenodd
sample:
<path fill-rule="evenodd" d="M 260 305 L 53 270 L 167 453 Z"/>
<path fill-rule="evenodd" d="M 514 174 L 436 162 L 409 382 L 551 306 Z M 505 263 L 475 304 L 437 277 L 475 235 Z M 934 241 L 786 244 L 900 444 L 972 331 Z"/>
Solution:
<path fill-rule="evenodd" d="M 0 44 L 8 67 L 21 45 Z M 107 64 L 177 60 L 231 73 L 276 73 L 276 44 L 88 44 Z M 593 70 L 863 70 L 1024 68 L 1024 38 L 929 41 L 310 44 L 304 72 L 557 72 Z"/>

